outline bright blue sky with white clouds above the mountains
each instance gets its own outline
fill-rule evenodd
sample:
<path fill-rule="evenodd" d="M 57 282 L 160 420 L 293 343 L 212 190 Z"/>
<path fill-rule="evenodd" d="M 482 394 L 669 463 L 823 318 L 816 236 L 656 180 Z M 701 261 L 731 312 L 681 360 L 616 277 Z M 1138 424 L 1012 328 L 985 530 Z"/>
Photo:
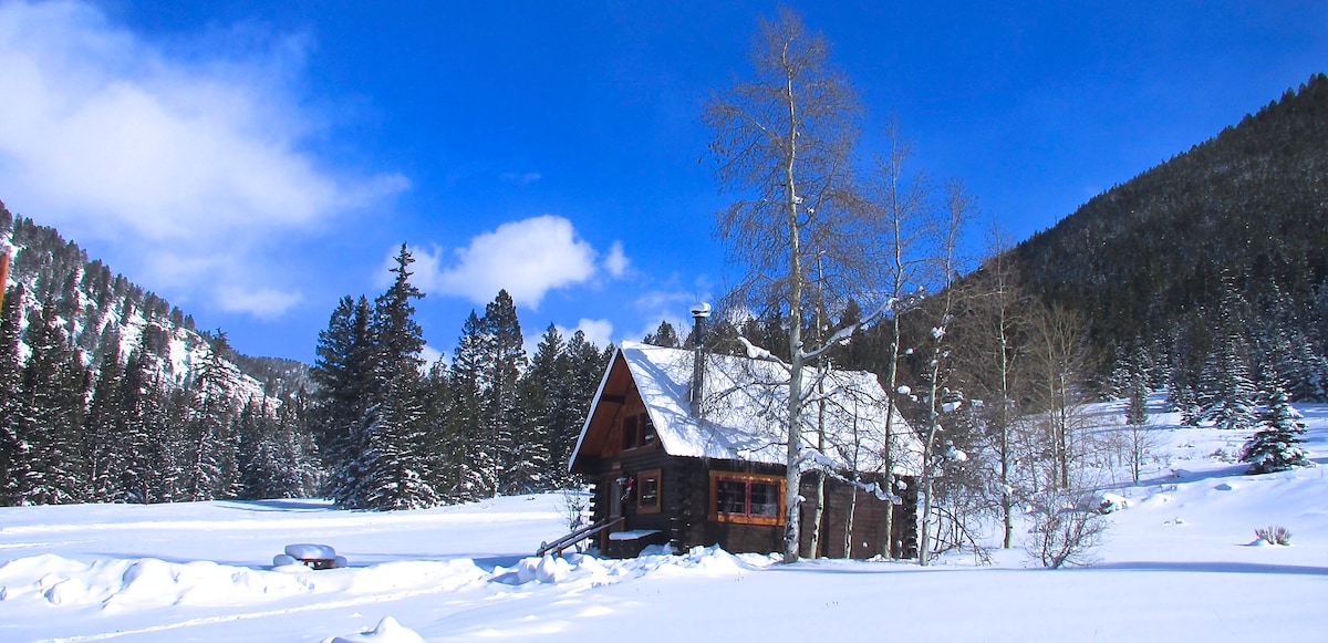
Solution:
<path fill-rule="evenodd" d="M 1328 70 L 1324 3 L 788 3 L 915 169 L 1013 239 Z M 0 201 L 250 355 L 312 361 L 401 243 L 448 352 L 513 292 L 603 345 L 733 280 L 699 121 L 760 16 L 706 3 L 0 3 Z"/>

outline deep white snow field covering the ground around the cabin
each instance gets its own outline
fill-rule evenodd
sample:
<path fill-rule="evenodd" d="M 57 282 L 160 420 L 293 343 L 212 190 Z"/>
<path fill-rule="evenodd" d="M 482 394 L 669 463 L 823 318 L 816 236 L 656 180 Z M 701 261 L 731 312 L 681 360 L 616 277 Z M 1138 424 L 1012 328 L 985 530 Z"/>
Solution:
<path fill-rule="evenodd" d="M 1121 408 L 1094 412 L 1118 424 Z M 1319 466 L 1268 476 L 1232 461 L 1248 433 L 1154 414 L 1159 457 L 1116 489 L 1129 507 L 1108 515 L 1100 562 L 1070 570 L 1019 549 L 927 569 L 714 549 L 529 558 L 566 533 L 556 493 L 400 513 L 7 507 L 0 640 L 1328 640 L 1328 405 L 1297 408 Z M 1291 546 L 1255 543 L 1270 525 Z M 297 542 L 349 567 L 274 569 Z"/>

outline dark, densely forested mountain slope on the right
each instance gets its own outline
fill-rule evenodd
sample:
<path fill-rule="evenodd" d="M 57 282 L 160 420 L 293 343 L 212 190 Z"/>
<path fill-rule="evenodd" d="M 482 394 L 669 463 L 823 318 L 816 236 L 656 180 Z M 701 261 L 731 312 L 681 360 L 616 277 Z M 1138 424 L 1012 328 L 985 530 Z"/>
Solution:
<path fill-rule="evenodd" d="M 1031 292 L 1081 311 L 1109 368 L 1187 372 L 1230 336 L 1251 373 L 1328 353 L 1328 77 L 1094 197 L 1012 252 Z M 1104 368 L 1104 371 L 1106 371 Z M 1163 375 L 1165 376 L 1165 375 Z"/>

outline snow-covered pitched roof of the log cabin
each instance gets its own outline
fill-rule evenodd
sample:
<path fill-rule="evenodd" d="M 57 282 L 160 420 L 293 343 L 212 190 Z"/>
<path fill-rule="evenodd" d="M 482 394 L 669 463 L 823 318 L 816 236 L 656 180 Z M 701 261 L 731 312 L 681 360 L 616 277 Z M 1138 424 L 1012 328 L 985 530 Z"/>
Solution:
<path fill-rule="evenodd" d="M 660 446 L 671 456 L 786 464 L 788 372 L 780 364 L 705 355 L 700 417 L 691 413 L 695 353 L 677 348 L 623 343 L 610 363 L 572 462 L 586 445 L 595 409 L 615 368 L 625 365 L 649 413 Z M 886 393 L 876 377 L 861 371 L 807 368 L 803 375 L 802 450 L 841 470 L 880 472 L 884 446 Z M 821 442 L 818 426 L 825 428 Z M 903 417 L 892 422 L 895 473 L 914 474 L 920 445 Z"/>

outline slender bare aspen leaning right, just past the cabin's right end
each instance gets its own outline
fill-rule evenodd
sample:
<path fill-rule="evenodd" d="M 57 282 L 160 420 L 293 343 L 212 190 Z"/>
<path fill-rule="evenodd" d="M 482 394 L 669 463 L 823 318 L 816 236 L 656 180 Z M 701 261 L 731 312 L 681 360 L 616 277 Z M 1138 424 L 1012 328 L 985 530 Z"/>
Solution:
<path fill-rule="evenodd" d="M 938 271 L 938 286 L 940 300 L 935 306 L 936 325 L 932 327 L 932 349 L 927 365 L 927 379 L 930 391 L 927 393 L 927 424 L 922 428 L 922 515 L 918 519 L 918 563 L 930 562 L 930 521 L 935 505 L 935 482 L 944 464 L 947 453 L 939 449 L 938 434 L 940 433 L 940 414 L 943 412 L 943 396 L 948 393 L 942 384 L 944 364 L 950 359 L 950 341 L 946 340 L 947 327 L 952 319 L 956 304 L 955 282 L 959 278 L 961 264 L 959 256 L 959 238 L 964 223 L 972 217 L 972 199 L 964 193 L 957 181 L 946 186 L 946 218 L 936 227 L 936 256 L 935 268 Z"/>

